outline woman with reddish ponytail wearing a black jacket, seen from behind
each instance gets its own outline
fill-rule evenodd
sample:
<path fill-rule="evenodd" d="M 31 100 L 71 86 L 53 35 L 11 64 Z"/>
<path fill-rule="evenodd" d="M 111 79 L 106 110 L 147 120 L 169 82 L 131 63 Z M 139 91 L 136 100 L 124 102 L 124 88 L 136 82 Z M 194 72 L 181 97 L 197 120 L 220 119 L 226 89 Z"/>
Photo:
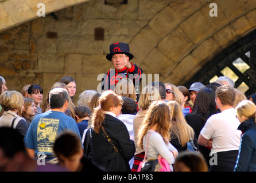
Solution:
<path fill-rule="evenodd" d="M 92 114 L 92 158 L 108 172 L 130 171 L 134 156 L 134 141 L 122 121 L 116 118 L 122 109 L 122 97 L 111 90 L 104 91 L 99 106 Z"/>

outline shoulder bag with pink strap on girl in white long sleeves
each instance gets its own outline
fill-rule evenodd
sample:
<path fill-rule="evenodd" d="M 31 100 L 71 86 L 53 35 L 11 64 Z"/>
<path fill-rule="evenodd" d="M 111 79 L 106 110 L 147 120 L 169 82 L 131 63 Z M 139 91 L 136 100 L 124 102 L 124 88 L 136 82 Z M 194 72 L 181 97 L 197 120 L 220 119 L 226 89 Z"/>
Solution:
<path fill-rule="evenodd" d="M 152 133 L 154 132 L 150 132 L 149 137 Z M 172 172 L 172 170 L 170 170 L 170 166 L 168 162 L 164 158 L 162 158 L 160 155 L 158 156 L 158 158 L 146 159 L 146 153 L 149 145 L 149 137 L 146 145 L 144 159 L 139 164 L 139 168 L 137 172 Z"/>

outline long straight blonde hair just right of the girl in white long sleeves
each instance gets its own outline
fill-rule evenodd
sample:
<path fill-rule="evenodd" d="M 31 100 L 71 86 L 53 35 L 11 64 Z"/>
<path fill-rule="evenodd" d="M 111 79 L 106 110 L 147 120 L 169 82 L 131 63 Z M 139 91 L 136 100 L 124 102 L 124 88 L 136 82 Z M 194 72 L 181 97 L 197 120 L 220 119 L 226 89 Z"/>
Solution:
<path fill-rule="evenodd" d="M 198 148 L 197 138 L 194 130 L 187 124 L 183 116 L 180 104 L 169 101 L 170 107 L 170 143 L 179 151 L 187 150 L 187 142 L 193 140 Z"/>

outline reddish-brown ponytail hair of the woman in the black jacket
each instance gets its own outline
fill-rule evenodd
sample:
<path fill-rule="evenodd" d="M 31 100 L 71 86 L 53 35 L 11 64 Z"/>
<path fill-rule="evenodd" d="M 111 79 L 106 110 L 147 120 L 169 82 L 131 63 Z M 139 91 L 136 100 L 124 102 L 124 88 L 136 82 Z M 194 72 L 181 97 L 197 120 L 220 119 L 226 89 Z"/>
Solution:
<path fill-rule="evenodd" d="M 102 93 L 99 98 L 99 106 L 94 109 L 94 113 L 92 114 L 92 125 L 96 133 L 99 133 L 102 122 L 105 119 L 104 111 L 109 111 L 111 107 L 118 106 L 121 103 L 122 97 L 118 96 L 118 94 L 112 90 L 107 90 Z"/>

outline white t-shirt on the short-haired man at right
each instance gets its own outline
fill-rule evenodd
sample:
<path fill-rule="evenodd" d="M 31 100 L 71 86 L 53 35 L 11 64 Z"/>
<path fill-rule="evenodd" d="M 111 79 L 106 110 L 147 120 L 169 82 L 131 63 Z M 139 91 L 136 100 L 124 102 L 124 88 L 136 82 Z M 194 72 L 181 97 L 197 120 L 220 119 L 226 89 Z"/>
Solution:
<path fill-rule="evenodd" d="M 206 121 L 201 135 L 210 140 L 212 138 L 211 152 L 226 152 L 239 150 L 241 130 L 238 130 L 240 122 L 235 117 L 234 108 L 226 109 L 214 114 Z"/>

